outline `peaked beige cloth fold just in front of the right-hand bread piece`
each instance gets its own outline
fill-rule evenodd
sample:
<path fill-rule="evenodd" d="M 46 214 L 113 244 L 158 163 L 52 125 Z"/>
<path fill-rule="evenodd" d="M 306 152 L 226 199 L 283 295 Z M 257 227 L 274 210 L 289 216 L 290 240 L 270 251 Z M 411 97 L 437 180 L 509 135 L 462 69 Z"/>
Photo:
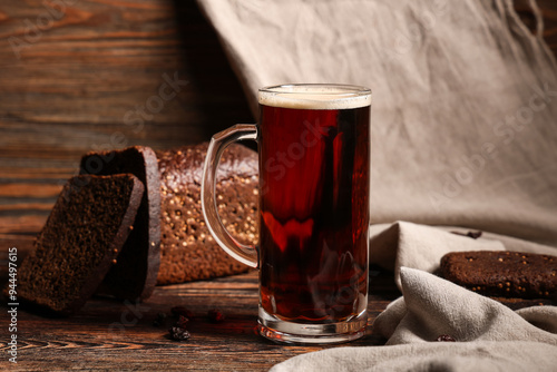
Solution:
<path fill-rule="evenodd" d="M 389 304 L 373 326 L 388 345 L 434 341 L 536 341 L 557 346 L 557 306 L 512 311 L 423 271 L 402 267 L 403 297 Z M 524 313 L 524 314 L 522 314 Z M 528 321 L 531 320 L 532 323 Z M 557 353 L 554 354 L 557 361 Z"/>

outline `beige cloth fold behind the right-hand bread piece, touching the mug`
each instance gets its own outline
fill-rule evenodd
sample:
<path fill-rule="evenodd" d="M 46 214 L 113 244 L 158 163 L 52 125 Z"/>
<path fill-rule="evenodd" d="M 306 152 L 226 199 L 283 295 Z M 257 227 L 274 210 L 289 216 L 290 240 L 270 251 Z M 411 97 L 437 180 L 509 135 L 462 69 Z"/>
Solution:
<path fill-rule="evenodd" d="M 394 281 L 400 288 L 400 267 L 433 273 L 439 268 L 441 257 L 449 252 L 515 251 L 557 256 L 557 248 L 547 245 L 485 232 L 481 237 L 473 239 L 452 232 L 467 231 L 461 227 L 432 227 L 409 222 L 372 225 L 370 261 L 394 270 Z"/>

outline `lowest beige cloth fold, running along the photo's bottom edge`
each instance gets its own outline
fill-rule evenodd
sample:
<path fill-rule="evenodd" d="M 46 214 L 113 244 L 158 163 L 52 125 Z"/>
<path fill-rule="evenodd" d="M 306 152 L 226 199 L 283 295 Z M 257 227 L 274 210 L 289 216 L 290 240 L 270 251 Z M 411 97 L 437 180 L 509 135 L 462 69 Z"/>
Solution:
<path fill-rule="evenodd" d="M 271 372 L 547 372 L 555 371 L 556 352 L 556 346 L 524 341 L 336 347 L 294 356 Z"/>

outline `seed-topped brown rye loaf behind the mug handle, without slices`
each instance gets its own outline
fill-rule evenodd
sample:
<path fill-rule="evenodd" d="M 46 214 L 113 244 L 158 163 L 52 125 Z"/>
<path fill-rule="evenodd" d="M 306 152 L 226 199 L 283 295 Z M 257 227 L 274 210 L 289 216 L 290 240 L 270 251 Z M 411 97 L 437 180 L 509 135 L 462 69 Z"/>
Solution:
<path fill-rule="evenodd" d="M 158 284 L 182 283 L 246 272 L 225 253 L 205 225 L 201 206 L 208 144 L 157 151 L 160 173 L 160 268 Z M 217 172 L 218 214 L 242 243 L 257 243 L 257 155 L 237 145 L 223 154 Z"/>

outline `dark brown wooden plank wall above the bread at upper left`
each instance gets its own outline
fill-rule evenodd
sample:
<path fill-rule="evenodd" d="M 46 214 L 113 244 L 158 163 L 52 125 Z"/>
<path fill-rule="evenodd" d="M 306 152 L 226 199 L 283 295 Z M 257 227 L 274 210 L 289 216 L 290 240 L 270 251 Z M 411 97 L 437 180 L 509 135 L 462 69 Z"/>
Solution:
<path fill-rule="evenodd" d="M 74 3 L 63 17 L 42 0 L 0 1 L 0 217 L 46 218 L 87 151 L 194 144 L 253 121 L 195 1 L 60 1 Z M 165 75 L 187 85 L 159 107 Z M 126 119 L 149 99 L 143 123 Z"/>

